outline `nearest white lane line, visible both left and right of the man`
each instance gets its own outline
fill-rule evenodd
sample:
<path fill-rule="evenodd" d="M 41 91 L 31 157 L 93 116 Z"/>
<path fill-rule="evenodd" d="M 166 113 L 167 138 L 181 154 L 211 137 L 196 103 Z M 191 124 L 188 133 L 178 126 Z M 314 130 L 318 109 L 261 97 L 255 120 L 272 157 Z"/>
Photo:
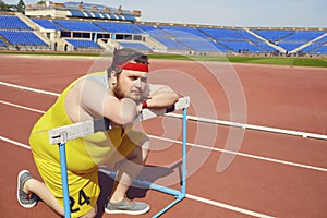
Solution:
<path fill-rule="evenodd" d="M 16 141 L 13 141 L 13 140 L 10 140 L 8 137 L 0 136 L 0 140 L 4 141 L 4 142 L 8 142 L 8 143 L 11 143 L 13 145 L 17 145 L 20 147 L 26 148 L 26 149 L 31 149 L 31 147 L 28 145 L 16 142 Z M 216 206 L 216 207 L 233 210 L 233 211 L 237 211 L 237 213 L 250 215 L 250 216 L 253 216 L 253 217 L 272 218 L 271 216 L 268 216 L 268 215 L 263 215 L 263 214 L 259 214 L 259 213 L 256 213 L 256 211 L 251 211 L 249 209 L 235 207 L 235 206 L 232 206 L 232 205 L 216 202 L 216 201 L 213 201 L 213 199 L 207 199 L 207 198 L 195 196 L 195 195 L 192 195 L 192 194 L 186 194 L 186 198 L 194 199 L 194 201 L 197 201 L 197 202 L 202 202 L 202 203 L 205 203 L 205 204 L 209 204 L 209 205 L 213 205 L 213 206 Z"/>

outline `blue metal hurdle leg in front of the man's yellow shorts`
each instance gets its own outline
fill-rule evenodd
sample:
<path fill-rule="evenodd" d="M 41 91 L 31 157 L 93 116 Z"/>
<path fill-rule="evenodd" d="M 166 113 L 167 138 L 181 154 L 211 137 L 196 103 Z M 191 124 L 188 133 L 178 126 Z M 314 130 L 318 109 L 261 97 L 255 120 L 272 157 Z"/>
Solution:
<path fill-rule="evenodd" d="M 59 156 L 60 156 L 64 217 L 71 218 L 70 194 L 69 194 L 66 159 L 65 159 L 65 143 L 59 144 Z"/>

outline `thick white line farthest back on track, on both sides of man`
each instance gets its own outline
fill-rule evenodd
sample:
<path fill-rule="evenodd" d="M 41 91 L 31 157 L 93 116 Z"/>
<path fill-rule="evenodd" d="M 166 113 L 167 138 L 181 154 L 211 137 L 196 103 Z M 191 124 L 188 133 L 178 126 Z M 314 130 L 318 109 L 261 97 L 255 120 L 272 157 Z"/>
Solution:
<path fill-rule="evenodd" d="M 0 81 L 0 85 L 5 85 L 8 87 L 20 88 L 20 89 L 23 89 L 23 90 L 29 90 L 29 92 L 34 92 L 34 93 L 52 95 L 52 96 L 57 96 L 57 97 L 60 95 L 58 93 L 51 93 L 51 92 L 48 92 L 48 90 L 29 88 L 29 87 L 15 85 L 15 84 L 11 84 L 11 83 L 5 83 L 5 82 L 1 82 L 1 81 Z M 168 117 L 174 117 L 174 118 L 181 118 L 181 114 L 177 114 L 177 113 L 172 113 L 172 112 L 167 114 L 167 116 Z M 230 122 L 230 121 L 223 121 L 223 120 L 214 120 L 214 119 L 209 119 L 209 118 L 198 118 L 198 117 L 193 117 L 193 116 L 187 116 L 187 119 L 193 120 L 193 121 L 211 123 L 211 124 L 220 124 L 220 125 L 235 126 L 235 128 L 250 129 L 250 130 L 256 130 L 256 131 L 278 133 L 278 134 L 288 134 L 288 135 L 302 136 L 304 138 L 311 137 L 311 138 L 316 138 L 316 140 L 327 140 L 327 135 L 315 134 L 315 133 L 306 133 L 306 132 L 301 132 L 301 131 L 284 130 L 284 129 L 278 129 L 278 128 L 254 125 L 254 124 L 245 124 L 245 123 Z"/>

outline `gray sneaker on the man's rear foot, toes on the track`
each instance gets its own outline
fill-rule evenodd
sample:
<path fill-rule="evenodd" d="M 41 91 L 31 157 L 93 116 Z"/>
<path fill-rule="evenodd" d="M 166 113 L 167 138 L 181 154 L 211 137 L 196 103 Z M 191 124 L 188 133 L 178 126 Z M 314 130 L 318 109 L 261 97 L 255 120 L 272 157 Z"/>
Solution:
<path fill-rule="evenodd" d="M 33 179 L 28 170 L 22 170 L 17 177 L 17 201 L 25 208 L 32 208 L 37 204 L 36 195 L 27 194 L 23 191 L 24 183 Z"/>

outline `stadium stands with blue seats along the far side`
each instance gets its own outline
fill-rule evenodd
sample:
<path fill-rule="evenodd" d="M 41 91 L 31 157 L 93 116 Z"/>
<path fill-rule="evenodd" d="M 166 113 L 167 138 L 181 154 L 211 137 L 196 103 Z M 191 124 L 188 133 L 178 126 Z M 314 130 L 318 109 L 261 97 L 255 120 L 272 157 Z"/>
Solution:
<path fill-rule="evenodd" d="M 112 51 L 129 47 L 147 52 L 187 55 L 327 55 L 327 29 L 223 27 L 141 22 L 141 11 L 95 3 L 46 1 L 25 14 L 0 14 L 0 47 L 64 51 Z"/>

